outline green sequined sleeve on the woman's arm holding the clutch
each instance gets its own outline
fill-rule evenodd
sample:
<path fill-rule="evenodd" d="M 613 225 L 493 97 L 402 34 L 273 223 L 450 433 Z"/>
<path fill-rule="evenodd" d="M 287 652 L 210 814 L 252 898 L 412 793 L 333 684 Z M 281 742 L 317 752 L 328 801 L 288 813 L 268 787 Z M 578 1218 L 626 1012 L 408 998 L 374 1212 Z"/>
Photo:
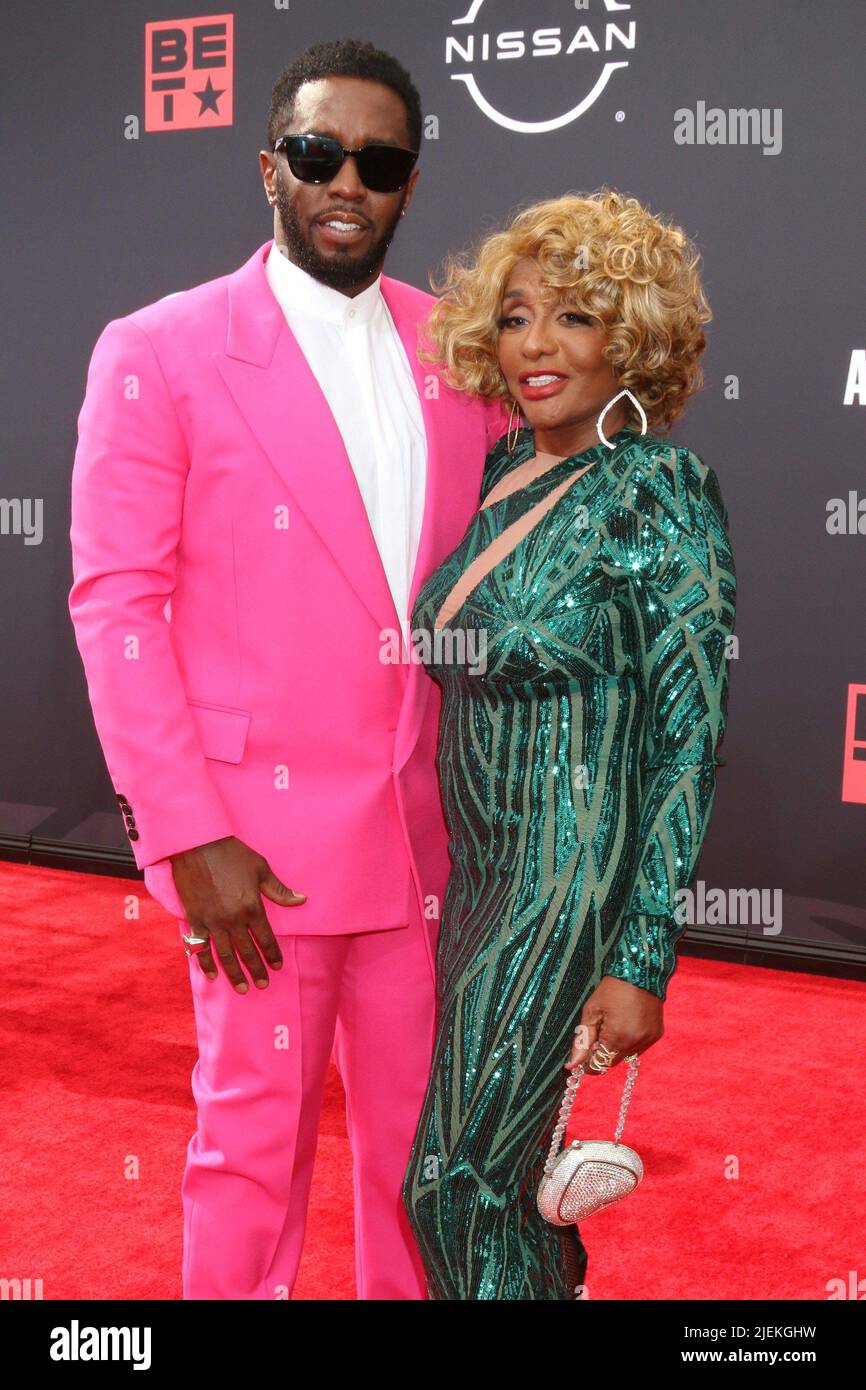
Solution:
<path fill-rule="evenodd" d="M 684 931 L 677 894 L 695 873 L 724 762 L 737 580 L 713 470 L 678 450 L 662 474 L 631 584 L 645 696 L 638 869 L 603 973 L 663 999 Z"/>

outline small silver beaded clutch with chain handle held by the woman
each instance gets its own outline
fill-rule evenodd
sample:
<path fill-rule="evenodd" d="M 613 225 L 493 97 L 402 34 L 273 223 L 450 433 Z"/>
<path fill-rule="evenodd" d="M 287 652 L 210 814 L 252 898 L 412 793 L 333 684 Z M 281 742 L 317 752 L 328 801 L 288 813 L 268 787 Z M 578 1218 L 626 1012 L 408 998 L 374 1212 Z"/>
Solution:
<path fill-rule="evenodd" d="M 644 1165 L 638 1154 L 626 1144 L 620 1144 L 628 1101 L 638 1079 L 638 1058 L 630 1056 L 626 1061 L 628 1062 L 628 1076 L 613 1140 L 575 1138 L 569 1148 L 559 1154 L 585 1065 L 575 1068 L 569 1077 L 550 1140 L 545 1175 L 538 1184 L 538 1211 L 553 1226 L 570 1226 L 603 1207 L 612 1207 L 613 1202 L 619 1202 L 621 1197 L 632 1193 L 644 1176 Z"/>

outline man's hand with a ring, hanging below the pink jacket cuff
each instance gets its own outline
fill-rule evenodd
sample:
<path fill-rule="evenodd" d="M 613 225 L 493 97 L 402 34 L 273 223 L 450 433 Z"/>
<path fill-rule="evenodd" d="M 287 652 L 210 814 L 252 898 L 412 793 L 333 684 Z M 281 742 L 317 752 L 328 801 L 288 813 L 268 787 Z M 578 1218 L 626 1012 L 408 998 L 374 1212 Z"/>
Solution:
<path fill-rule="evenodd" d="M 207 845 L 171 855 L 178 897 L 190 931 L 209 937 L 196 952 L 196 960 L 209 980 L 217 979 L 211 947 L 222 962 L 228 979 L 239 994 L 246 994 L 240 960 L 260 990 L 268 983 L 261 955 L 272 970 L 282 966 L 282 952 L 264 913 L 261 894 L 282 908 L 306 902 L 306 894 L 293 892 L 271 873 L 267 859 L 235 835 L 213 840 Z M 256 945 L 259 951 L 256 951 Z"/>

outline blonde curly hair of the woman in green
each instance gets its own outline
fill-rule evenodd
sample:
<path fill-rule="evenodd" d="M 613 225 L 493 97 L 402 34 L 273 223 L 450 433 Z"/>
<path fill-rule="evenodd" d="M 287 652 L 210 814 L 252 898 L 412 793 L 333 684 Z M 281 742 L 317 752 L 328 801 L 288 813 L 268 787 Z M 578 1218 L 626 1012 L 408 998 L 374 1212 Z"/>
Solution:
<path fill-rule="evenodd" d="M 713 316 L 698 275 L 701 256 L 683 228 L 607 188 L 532 203 L 503 231 L 446 257 L 439 277 L 430 278 L 439 299 L 425 324 L 421 359 L 459 391 L 507 398 L 498 320 L 509 274 L 527 256 L 552 292 L 567 289 L 605 328 L 603 353 L 619 388 L 644 406 L 648 427 L 670 430 L 703 385 L 702 324 Z M 628 423 L 637 423 L 631 403 L 624 404 Z"/>

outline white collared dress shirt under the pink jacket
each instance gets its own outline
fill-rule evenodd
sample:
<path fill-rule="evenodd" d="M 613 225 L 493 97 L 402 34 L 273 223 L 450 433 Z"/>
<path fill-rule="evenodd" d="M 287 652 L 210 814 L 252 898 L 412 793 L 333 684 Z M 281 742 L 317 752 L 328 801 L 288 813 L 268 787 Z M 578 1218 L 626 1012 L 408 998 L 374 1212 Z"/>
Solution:
<path fill-rule="evenodd" d="M 343 436 L 398 616 L 407 619 L 424 517 L 427 432 L 382 277 L 350 299 L 295 265 L 275 242 L 264 268 Z"/>

